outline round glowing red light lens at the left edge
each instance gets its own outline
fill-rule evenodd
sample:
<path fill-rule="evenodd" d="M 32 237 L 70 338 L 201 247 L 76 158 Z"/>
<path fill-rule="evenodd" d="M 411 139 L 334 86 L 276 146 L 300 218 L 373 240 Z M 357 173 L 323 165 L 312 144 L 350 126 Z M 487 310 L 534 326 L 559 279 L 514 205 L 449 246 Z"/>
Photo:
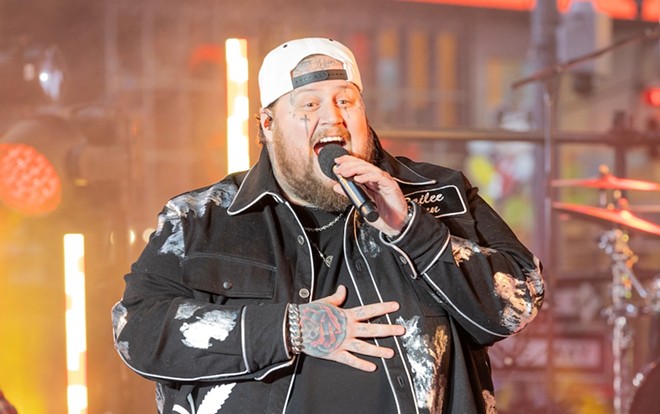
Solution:
<path fill-rule="evenodd" d="M 45 215 L 62 201 L 62 180 L 33 146 L 0 144 L 0 200 L 22 214 Z"/>

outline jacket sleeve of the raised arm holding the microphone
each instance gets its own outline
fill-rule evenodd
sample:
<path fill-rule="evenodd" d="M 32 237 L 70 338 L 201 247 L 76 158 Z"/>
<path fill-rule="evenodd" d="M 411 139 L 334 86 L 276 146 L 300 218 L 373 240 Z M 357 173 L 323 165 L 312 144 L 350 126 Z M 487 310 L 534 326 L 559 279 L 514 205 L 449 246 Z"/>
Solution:
<path fill-rule="evenodd" d="M 519 332 L 538 314 L 539 260 L 463 177 L 468 213 L 448 223 L 412 203 L 413 217 L 391 246 L 401 270 L 424 283 L 481 345 Z M 460 229 L 460 231 L 459 231 Z"/>

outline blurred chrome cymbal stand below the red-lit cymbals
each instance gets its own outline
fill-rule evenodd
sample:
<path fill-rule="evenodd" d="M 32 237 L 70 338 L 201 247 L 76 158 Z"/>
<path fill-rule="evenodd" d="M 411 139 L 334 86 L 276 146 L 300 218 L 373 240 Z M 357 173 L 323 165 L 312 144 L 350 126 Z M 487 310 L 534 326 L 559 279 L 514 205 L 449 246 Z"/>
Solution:
<path fill-rule="evenodd" d="M 621 229 L 605 232 L 598 244 L 612 259 L 612 304 L 604 311 L 612 325 L 612 386 L 614 392 L 614 414 L 626 414 L 632 397 L 632 367 L 625 357 L 634 345 L 631 318 L 638 315 L 632 302 L 633 288 L 645 298 L 646 290 L 632 270 L 637 256 L 628 246 L 628 233 Z"/>

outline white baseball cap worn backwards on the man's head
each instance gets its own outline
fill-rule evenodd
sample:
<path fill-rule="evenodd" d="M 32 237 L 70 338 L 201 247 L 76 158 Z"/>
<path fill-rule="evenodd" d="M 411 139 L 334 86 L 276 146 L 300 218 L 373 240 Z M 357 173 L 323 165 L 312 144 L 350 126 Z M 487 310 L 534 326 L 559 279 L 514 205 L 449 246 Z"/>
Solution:
<path fill-rule="evenodd" d="M 342 62 L 344 69 L 320 70 L 295 78 L 291 72 L 301 60 L 311 55 L 326 55 Z M 332 79 L 345 79 L 353 82 L 362 92 L 360 71 L 355 56 L 349 48 L 336 40 L 308 37 L 281 44 L 264 58 L 259 70 L 259 92 L 261 107 L 265 108 L 280 96 L 303 85 Z"/>

